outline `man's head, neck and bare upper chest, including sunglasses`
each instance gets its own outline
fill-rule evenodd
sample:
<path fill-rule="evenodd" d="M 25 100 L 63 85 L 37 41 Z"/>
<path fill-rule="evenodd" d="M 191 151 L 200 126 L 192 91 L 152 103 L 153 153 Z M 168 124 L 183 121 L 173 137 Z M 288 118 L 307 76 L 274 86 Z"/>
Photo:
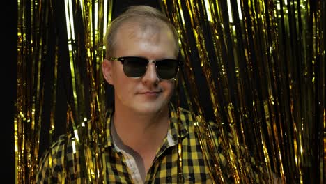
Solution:
<path fill-rule="evenodd" d="M 139 6 L 112 22 L 106 41 L 102 71 L 114 86 L 113 140 L 137 166 L 128 166 L 133 180 L 143 182 L 169 130 L 178 37 L 161 13 Z"/>

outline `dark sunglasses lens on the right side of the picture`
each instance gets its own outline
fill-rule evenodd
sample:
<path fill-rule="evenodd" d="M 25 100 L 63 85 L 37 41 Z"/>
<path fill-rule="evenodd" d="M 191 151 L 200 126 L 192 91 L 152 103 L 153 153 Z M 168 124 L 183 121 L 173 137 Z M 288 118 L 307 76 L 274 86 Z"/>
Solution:
<path fill-rule="evenodd" d="M 156 62 L 156 71 L 161 79 L 172 79 L 178 72 L 178 61 L 173 59 L 164 59 Z"/>

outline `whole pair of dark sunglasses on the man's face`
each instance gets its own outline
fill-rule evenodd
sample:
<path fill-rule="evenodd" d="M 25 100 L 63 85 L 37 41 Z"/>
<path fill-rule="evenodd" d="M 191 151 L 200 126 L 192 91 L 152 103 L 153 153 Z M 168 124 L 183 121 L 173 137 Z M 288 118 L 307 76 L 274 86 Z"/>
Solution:
<path fill-rule="evenodd" d="M 126 56 L 109 58 L 110 61 L 120 61 L 123 64 L 123 72 L 127 77 L 142 77 L 148 68 L 148 63 L 155 63 L 156 74 L 160 79 L 175 79 L 182 61 L 176 59 L 148 60 L 142 57 Z"/>

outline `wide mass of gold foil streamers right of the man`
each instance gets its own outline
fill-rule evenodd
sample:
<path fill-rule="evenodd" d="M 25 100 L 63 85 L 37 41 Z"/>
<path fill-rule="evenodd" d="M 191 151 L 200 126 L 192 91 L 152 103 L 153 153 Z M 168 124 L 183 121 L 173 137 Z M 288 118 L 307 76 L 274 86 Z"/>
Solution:
<path fill-rule="evenodd" d="M 286 183 L 323 183 L 325 2 L 163 2 L 180 31 L 191 84 L 200 63 L 233 181 L 255 182 L 256 172 L 265 181 L 276 174 Z M 189 109 L 201 116 L 203 104 L 194 92 L 203 92 L 201 84 L 198 90 L 184 88 L 194 101 L 187 100 Z M 235 152 L 226 132 L 233 135 Z M 205 143 L 212 145 L 202 138 Z M 257 168 L 246 170 L 250 158 Z"/>

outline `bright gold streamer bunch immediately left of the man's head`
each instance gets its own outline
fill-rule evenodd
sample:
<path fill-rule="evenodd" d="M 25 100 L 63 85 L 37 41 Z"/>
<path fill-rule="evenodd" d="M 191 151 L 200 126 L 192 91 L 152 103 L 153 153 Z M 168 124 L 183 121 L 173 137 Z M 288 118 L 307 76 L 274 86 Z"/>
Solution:
<path fill-rule="evenodd" d="M 82 166 L 84 173 L 87 175 L 87 181 L 90 183 L 102 183 L 104 181 L 103 169 L 103 142 L 104 131 L 106 128 L 106 121 L 104 120 L 104 100 L 99 95 L 104 94 L 104 89 L 100 82 L 102 81 L 102 73 L 100 70 L 100 63 L 103 59 L 103 43 L 105 29 L 103 27 L 104 17 L 108 17 L 107 9 L 111 13 L 111 1 L 65 1 L 65 12 L 67 19 L 68 42 L 71 44 L 70 49 L 70 71 L 72 75 L 72 86 L 74 94 L 75 109 L 72 109 L 72 114 L 77 118 L 77 125 L 73 125 L 76 140 L 81 144 L 84 150 L 85 165 Z M 75 6 L 72 4 L 75 3 Z M 74 21 L 77 20 L 78 14 L 72 7 L 77 7 L 81 12 L 83 32 L 75 32 L 76 25 Z M 105 11 L 104 11 L 105 10 Z M 109 16 L 110 20 L 111 15 Z M 107 18 L 105 19 L 107 20 Z M 108 22 L 105 22 L 107 24 Z M 85 47 L 79 49 L 77 43 L 81 40 L 75 38 L 84 38 Z M 82 54 L 86 52 L 87 76 L 88 76 L 88 93 L 90 97 L 89 105 L 83 104 L 85 94 L 84 82 L 81 72 L 79 71 L 80 61 L 76 59 L 83 59 Z M 100 102 L 100 100 L 103 100 Z M 89 109 L 80 109 L 89 107 Z M 88 111 L 89 117 L 86 112 Z M 88 121 L 89 120 L 89 121 Z M 91 125 L 84 125 L 84 123 L 91 123 Z M 91 130 L 87 129 L 90 128 Z M 97 144 L 91 144 L 95 142 Z M 94 153 L 90 150 L 95 151 Z"/>

